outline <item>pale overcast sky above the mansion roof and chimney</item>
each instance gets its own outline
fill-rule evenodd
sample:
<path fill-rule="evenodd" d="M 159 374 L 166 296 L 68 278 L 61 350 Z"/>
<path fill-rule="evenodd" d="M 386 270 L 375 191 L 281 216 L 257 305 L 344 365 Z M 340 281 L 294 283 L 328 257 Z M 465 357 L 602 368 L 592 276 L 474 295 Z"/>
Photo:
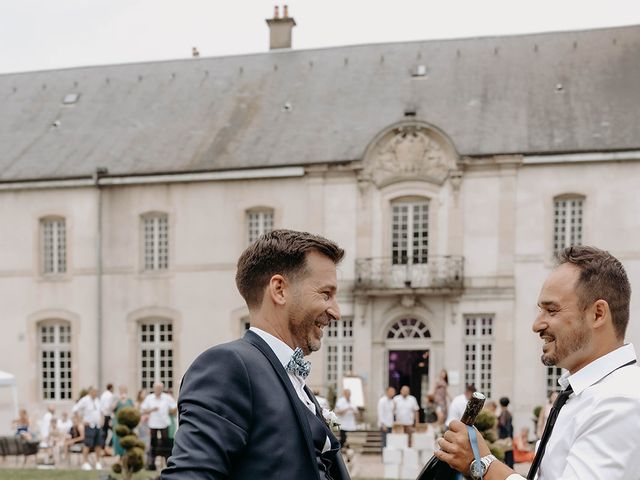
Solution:
<path fill-rule="evenodd" d="M 294 49 L 640 24 L 640 0 L 0 0 L 0 73 L 266 52 L 284 3 Z"/>

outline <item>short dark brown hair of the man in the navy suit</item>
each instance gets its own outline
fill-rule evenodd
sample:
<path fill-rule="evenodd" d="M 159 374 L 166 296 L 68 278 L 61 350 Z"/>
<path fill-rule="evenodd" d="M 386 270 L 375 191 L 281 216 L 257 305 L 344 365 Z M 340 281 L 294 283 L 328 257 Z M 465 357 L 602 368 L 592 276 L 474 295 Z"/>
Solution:
<path fill-rule="evenodd" d="M 262 304 L 264 289 L 274 275 L 292 278 L 302 273 L 307 253 L 315 251 L 336 265 L 344 250 L 319 235 L 294 230 L 274 230 L 252 243 L 238 259 L 236 285 L 249 308 Z"/>

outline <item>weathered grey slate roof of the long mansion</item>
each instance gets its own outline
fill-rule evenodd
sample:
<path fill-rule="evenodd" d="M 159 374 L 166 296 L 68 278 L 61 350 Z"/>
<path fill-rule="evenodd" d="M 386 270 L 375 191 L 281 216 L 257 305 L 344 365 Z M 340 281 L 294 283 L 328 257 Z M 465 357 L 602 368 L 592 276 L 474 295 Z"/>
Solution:
<path fill-rule="evenodd" d="M 640 26 L 0 75 L 0 181 L 357 160 L 406 110 L 462 155 L 640 149 Z"/>

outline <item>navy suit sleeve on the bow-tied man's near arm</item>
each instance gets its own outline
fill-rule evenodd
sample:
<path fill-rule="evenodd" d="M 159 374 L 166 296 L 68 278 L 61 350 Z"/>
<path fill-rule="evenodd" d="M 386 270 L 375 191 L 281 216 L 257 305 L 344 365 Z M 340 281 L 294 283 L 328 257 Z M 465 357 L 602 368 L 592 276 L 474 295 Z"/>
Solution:
<path fill-rule="evenodd" d="M 198 357 L 182 379 L 179 428 L 162 480 L 229 478 L 247 443 L 251 396 L 237 351 L 217 347 Z"/>

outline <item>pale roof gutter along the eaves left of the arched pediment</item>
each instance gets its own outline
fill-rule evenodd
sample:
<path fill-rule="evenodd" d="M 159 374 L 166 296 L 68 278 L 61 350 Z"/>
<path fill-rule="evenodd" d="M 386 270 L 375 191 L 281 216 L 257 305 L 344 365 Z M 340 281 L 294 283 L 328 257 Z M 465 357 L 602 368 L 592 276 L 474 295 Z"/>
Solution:
<path fill-rule="evenodd" d="M 113 175 L 95 179 L 91 177 L 77 179 L 51 179 L 15 181 L 0 183 L 2 190 L 41 190 L 49 188 L 86 188 L 119 185 L 148 185 L 154 183 L 187 183 L 187 182 L 215 182 L 227 180 L 252 180 L 268 178 L 288 178 L 304 176 L 304 167 L 274 167 L 254 168 L 251 170 L 226 170 L 222 172 L 202 173 L 169 173 L 157 175 Z M 97 183 L 96 183 L 97 182 Z"/>

